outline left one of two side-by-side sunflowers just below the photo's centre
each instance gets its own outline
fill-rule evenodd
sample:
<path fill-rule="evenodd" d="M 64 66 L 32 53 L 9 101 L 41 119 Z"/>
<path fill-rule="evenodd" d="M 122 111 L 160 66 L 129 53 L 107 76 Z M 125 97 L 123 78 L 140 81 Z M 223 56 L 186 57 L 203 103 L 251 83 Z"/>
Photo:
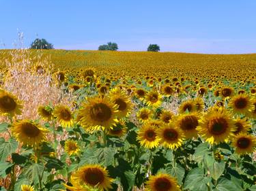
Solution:
<path fill-rule="evenodd" d="M 152 124 L 144 124 L 137 132 L 137 140 L 146 148 L 152 149 L 159 145 L 159 138 L 156 136 L 157 127 Z"/>

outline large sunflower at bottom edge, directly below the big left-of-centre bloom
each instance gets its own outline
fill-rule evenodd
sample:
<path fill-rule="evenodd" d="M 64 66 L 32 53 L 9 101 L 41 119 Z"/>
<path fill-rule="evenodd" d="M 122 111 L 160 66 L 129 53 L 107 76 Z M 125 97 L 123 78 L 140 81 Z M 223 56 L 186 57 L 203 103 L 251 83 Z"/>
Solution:
<path fill-rule="evenodd" d="M 84 186 L 90 186 L 91 188 L 98 188 L 102 191 L 111 189 L 113 182 L 106 168 L 98 164 L 86 164 L 80 167 L 72 173 L 71 179 L 75 185 L 79 185 L 82 188 Z"/>

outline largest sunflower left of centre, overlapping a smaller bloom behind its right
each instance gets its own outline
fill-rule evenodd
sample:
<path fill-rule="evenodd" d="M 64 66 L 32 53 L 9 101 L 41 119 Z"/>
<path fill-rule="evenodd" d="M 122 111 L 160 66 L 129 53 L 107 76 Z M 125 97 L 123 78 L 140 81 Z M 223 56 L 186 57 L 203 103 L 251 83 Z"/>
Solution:
<path fill-rule="evenodd" d="M 89 97 L 79 110 L 80 124 L 89 131 L 109 128 L 115 124 L 118 105 L 106 97 Z"/>

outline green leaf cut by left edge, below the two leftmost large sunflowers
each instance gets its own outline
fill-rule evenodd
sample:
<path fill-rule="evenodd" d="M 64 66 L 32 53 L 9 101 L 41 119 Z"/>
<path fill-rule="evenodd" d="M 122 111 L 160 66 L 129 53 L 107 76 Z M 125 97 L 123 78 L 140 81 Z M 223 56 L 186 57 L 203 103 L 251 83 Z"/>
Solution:
<path fill-rule="evenodd" d="M 15 139 L 9 139 L 5 142 L 5 139 L 0 138 L 0 162 L 4 162 L 6 158 L 12 152 L 15 152 L 18 147 L 18 142 Z"/>

